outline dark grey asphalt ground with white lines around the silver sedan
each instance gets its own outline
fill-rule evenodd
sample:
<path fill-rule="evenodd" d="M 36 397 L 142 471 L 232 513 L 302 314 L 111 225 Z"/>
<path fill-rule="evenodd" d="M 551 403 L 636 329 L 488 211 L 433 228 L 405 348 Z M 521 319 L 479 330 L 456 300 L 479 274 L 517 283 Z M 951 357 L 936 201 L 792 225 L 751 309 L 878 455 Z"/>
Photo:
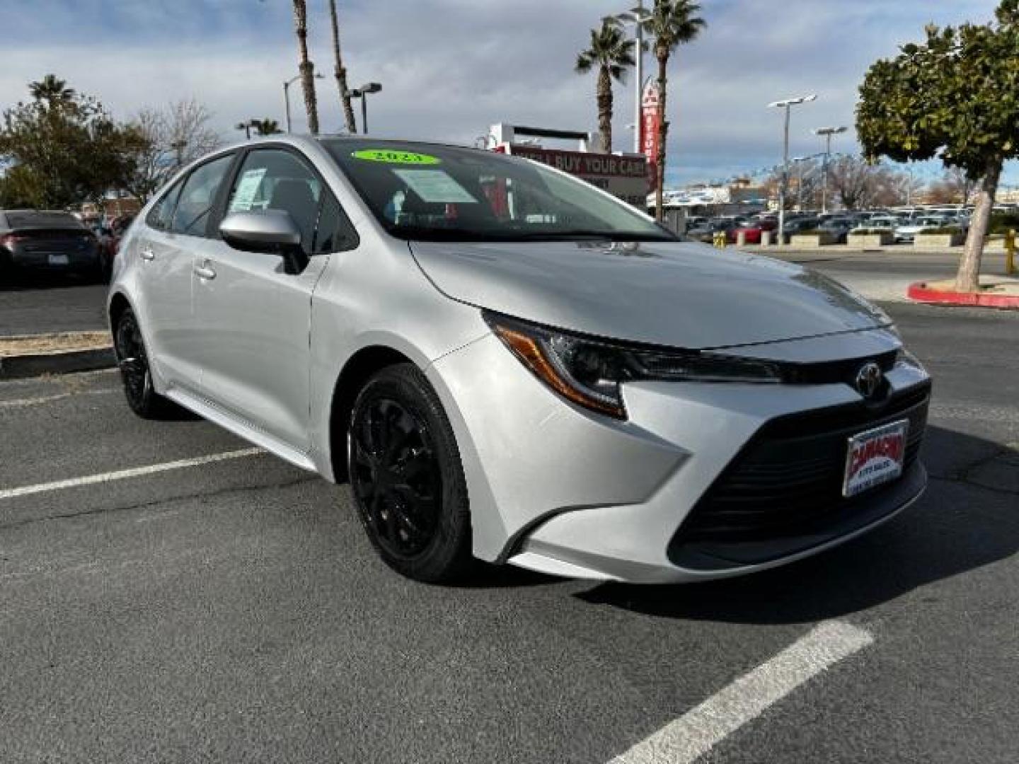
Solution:
<path fill-rule="evenodd" d="M 1015 762 L 1019 315 L 886 307 L 926 496 L 693 587 L 413 584 L 345 487 L 111 372 L 0 383 L 0 761 Z"/>

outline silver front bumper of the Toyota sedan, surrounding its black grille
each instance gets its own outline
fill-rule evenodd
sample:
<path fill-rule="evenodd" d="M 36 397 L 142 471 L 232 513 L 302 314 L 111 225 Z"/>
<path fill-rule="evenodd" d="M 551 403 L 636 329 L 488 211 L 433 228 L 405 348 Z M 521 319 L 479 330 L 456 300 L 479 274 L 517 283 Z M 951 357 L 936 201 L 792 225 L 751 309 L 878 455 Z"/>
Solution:
<path fill-rule="evenodd" d="M 897 340 L 873 331 L 829 344 L 838 346 L 837 358 L 857 358 L 895 347 Z M 802 349 L 798 343 L 776 343 L 758 351 L 781 358 Z M 917 498 L 926 482 L 914 450 L 902 479 L 851 505 L 823 491 L 816 494 L 813 514 L 824 522 L 785 527 L 780 522 L 770 536 L 711 536 L 691 524 L 772 423 L 804 413 L 863 411 L 858 422 L 847 425 L 862 432 L 883 421 L 887 412 L 868 408 L 841 383 L 641 382 L 626 386 L 629 419 L 616 422 L 564 402 L 493 336 L 440 359 L 429 376 L 461 446 L 474 552 L 482 559 L 629 582 L 725 578 L 859 535 Z M 915 424 L 910 418 L 918 449 L 929 380 L 908 366 L 896 367 L 887 378 L 889 400 L 919 396 Z M 832 446 L 842 443 L 841 430 L 828 436 L 829 447 L 841 447 Z M 845 451 L 839 455 L 844 462 Z M 811 521 L 810 502 L 801 503 L 799 511 Z"/>

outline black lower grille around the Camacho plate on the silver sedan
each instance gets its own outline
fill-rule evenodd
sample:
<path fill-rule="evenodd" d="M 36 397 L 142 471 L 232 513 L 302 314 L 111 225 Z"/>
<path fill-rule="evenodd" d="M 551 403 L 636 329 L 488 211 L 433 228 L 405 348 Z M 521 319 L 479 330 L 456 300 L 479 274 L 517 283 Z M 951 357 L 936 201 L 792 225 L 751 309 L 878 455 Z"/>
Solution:
<path fill-rule="evenodd" d="M 878 406 L 861 402 L 768 423 L 691 510 L 669 543 L 669 557 L 676 561 L 690 545 L 822 538 L 845 533 L 854 515 L 871 522 L 866 508 L 894 491 L 898 482 L 843 497 L 849 438 L 908 420 L 904 473 L 909 473 L 923 440 L 929 400 L 927 384 Z"/>

